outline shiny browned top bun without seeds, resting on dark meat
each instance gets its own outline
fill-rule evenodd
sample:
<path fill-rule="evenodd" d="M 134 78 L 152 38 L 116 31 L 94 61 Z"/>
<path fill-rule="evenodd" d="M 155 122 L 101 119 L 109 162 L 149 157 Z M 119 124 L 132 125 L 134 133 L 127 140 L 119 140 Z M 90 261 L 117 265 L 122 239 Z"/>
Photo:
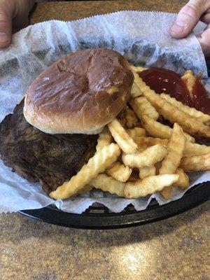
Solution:
<path fill-rule="evenodd" d="M 114 50 L 76 52 L 31 83 L 24 116 L 50 134 L 97 134 L 123 109 L 133 80 L 127 60 Z"/>

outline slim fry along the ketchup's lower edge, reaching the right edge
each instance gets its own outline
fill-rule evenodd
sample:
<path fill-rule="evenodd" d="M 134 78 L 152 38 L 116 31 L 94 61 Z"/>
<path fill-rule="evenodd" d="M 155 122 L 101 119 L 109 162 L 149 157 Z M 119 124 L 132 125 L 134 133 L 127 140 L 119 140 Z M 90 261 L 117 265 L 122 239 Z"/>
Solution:
<path fill-rule="evenodd" d="M 175 98 L 170 97 L 169 94 L 162 93 L 162 94 L 160 94 L 160 97 L 162 97 L 163 99 L 165 99 L 167 102 L 171 103 L 172 105 L 176 106 L 177 108 L 181 109 L 181 111 L 187 113 L 192 118 L 196 118 L 197 120 L 199 120 L 202 123 L 207 123 L 210 121 L 209 115 L 207 115 L 201 111 L 197 111 L 195 108 L 182 104 L 181 102 L 177 101 Z"/>

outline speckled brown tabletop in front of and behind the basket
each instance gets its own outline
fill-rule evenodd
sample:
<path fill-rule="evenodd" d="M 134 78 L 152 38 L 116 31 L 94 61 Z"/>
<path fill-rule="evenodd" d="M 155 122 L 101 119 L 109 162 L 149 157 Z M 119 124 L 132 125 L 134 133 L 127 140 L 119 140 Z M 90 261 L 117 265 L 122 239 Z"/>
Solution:
<path fill-rule="evenodd" d="M 116 10 L 178 12 L 186 1 L 40 3 L 31 24 L 75 20 Z M 2 280 L 209 279 L 209 205 L 137 228 L 61 228 L 20 214 L 0 215 Z"/>

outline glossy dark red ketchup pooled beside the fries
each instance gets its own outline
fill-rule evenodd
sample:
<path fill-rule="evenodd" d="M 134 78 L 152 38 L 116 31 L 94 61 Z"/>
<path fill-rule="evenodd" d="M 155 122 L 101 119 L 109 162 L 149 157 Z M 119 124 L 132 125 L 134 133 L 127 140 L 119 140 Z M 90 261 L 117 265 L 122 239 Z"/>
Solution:
<path fill-rule="evenodd" d="M 139 73 L 146 85 L 157 93 L 167 93 L 183 104 L 210 114 L 210 99 L 200 80 L 193 87 L 193 99 L 181 77 L 174 71 L 160 68 L 150 68 Z"/>

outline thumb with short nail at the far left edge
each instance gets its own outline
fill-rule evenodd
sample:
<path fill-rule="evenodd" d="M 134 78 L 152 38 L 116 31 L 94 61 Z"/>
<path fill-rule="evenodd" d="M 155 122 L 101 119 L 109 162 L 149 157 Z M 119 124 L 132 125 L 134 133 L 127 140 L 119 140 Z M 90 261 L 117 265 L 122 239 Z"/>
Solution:
<path fill-rule="evenodd" d="M 12 38 L 12 13 L 0 6 L 0 48 L 10 45 Z"/>

